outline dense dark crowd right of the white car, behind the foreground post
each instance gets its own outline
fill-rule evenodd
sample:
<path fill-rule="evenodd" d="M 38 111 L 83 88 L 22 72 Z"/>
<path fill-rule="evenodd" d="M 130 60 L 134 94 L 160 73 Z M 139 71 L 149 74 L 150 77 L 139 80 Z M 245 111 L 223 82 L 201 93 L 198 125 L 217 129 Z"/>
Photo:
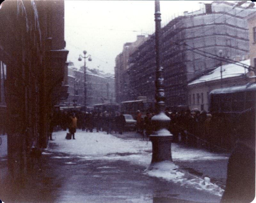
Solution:
<path fill-rule="evenodd" d="M 207 147 L 213 150 L 217 148 L 230 150 L 234 147 L 237 139 L 237 122 L 225 114 L 211 115 L 206 111 L 197 109 L 190 111 L 165 111 L 170 117 L 168 130 L 173 135 L 173 142 L 182 142 L 189 146 Z M 151 117 L 154 113 L 147 113 L 144 118 L 137 111 L 137 132 L 143 136 L 149 136 L 154 126 Z"/>

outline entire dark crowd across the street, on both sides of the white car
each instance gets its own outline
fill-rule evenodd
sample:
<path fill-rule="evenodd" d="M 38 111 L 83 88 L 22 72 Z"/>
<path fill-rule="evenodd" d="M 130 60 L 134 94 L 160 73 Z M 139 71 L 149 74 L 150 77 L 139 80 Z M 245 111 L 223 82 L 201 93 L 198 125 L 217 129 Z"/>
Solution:
<path fill-rule="evenodd" d="M 106 131 L 123 133 L 125 127 L 125 118 L 123 113 L 114 111 L 55 111 L 52 114 L 50 122 L 50 132 L 53 128 L 63 129 L 66 131 L 71 125 L 72 115 L 77 119 L 76 128 L 86 132 Z M 236 141 L 236 124 L 230 118 L 224 115 L 211 115 L 206 111 L 189 109 L 184 111 L 172 111 L 166 109 L 165 114 L 170 117 L 168 130 L 173 135 L 173 142 L 183 142 L 190 146 L 204 147 L 222 147 L 231 149 Z M 148 112 L 142 115 L 140 110 L 137 111 L 136 131 L 143 135 L 143 138 L 149 138 L 154 131 L 151 118 L 154 112 Z M 52 139 L 52 137 L 50 137 Z"/>

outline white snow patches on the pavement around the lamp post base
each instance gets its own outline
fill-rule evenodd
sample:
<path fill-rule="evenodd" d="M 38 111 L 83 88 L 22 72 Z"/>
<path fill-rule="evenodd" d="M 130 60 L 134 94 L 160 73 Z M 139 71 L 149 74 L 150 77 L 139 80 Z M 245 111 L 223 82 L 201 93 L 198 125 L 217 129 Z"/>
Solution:
<path fill-rule="evenodd" d="M 65 139 L 66 132 L 54 132 L 53 143 L 57 147 L 46 149 L 43 154 L 52 151 L 70 154 L 66 158 L 76 157 L 80 160 L 122 160 L 132 164 L 145 167 L 144 174 L 163 178 L 172 181 L 184 187 L 193 187 L 198 190 L 221 196 L 223 189 L 219 185 L 211 183 L 208 177 L 200 177 L 179 168 L 175 163 L 179 162 L 198 162 L 198 161 L 218 161 L 227 160 L 227 154 L 211 153 L 203 149 L 182 147 L 178 144 L 172 144 L 172 159 L 174 163 L 163 162 L 147 169 L 151 162 L 152 146 L 150 141 L 139 139 L 120 139 L 106 132 L 82 132 L 75 134 L 75 140 Z M 52 157 L 64 158 L 65 157 Z M 64 160 L 65 161 L 65 160 Z M 75 162 L 65 162 L 66 164 L 75 164 Z M 106 166 L 108 167 L 108 166 Z M 203 167 L 203 166 L 202 166 Z"/>

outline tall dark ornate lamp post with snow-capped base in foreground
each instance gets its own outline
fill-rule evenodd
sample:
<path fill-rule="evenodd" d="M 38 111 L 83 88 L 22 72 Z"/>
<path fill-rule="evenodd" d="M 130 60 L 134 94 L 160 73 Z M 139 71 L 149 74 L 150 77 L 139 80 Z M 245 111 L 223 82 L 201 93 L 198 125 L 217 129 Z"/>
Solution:
<path fill-rule="evenodd" d="M 172 134 L 167 130 L 170 124 L 170 118 L 164 113 L 164 69 L 161 66 L 161 13 L 160 3 L 155 1 L 155 48 L 156 48 L 156 112 L 157 114 L 151 118 L 155 131 L 150 135 L 152 142 L 152 160 L 151 166 L 162 161 L 172 162 L 171 141 Z"/>

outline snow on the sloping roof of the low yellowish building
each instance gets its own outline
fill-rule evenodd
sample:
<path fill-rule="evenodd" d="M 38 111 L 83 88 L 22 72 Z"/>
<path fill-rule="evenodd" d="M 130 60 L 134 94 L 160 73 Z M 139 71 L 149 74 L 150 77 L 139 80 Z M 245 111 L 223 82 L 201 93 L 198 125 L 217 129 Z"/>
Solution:
<path fill-rule="evenodd" d="M 250 59 L 239 61 L 245 65 L 250 65 Z M 237 65 L 237 64 L 226 64 L 222 65 L 222 79 L 224 78 L 231 78 L 243 75 L 244 73 L 248 72 L 248 69 L 244 70 L 244 67 Z M 208 82 L 212 80 L 219 80 L 220 79 L 220 66 L 215 68 L 213 71 L 209 72 L 208 74 L 188 83 L 188 85 L 194 85 L 202 82 Z"/>

